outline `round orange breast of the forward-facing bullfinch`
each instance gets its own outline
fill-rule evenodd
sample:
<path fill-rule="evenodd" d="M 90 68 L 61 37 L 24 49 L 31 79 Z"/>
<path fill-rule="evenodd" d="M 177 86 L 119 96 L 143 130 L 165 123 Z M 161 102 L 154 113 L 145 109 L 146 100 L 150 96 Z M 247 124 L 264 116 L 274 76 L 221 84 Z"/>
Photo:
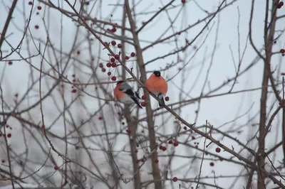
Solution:
<path fill-rule="evenodd" d="M 147 87 L 147 90 L 152 93 L 159 92 L 163 95 L 166 95 L 167 93 L 167 82 L 165 79 L 162 76 L 157 77 L 153 73 L 150 75 L 150 78 L 148 78 L 147 82 L 145 82 L 145 87 Z"/>

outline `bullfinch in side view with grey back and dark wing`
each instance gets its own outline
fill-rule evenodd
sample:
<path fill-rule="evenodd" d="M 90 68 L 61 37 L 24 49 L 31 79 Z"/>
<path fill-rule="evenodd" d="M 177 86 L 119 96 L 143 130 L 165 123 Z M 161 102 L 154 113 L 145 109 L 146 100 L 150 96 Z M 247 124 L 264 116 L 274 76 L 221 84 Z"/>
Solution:
<path fill-rule="evenodd" d="M 133 104 L 135 102 L 135 104 L 138 104 L 138 107 L 142 108 L 138 102 L 138 98 L 140 98 L 138 93 L 134 92 L 133 88 L 130 87 L 127 82 L 117 82 L 117 86 L 114 90 L 114 97 L 115 100 L 123 102 L 124 104 Z"/>

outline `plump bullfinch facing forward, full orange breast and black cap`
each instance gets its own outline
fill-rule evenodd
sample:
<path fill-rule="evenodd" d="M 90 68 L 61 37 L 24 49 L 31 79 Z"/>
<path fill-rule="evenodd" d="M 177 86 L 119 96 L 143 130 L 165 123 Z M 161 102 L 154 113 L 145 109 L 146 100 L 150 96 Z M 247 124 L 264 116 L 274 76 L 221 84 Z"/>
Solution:
<path fill-rule="evenodd" d="M 147 82 L 145 82 L 145 87 L 147 87 L 147 90 L 152 92 L 154 95 L 157 95 L 160 101 L 165 104 L 163 97 L 167 93 L 167 82 L 161 76 L 161 73 L 159 71 L 153 72 L 152 75 L 148 77 Z M 159 104 L 160 107 L 162 107 L 162 104 Z"/>

